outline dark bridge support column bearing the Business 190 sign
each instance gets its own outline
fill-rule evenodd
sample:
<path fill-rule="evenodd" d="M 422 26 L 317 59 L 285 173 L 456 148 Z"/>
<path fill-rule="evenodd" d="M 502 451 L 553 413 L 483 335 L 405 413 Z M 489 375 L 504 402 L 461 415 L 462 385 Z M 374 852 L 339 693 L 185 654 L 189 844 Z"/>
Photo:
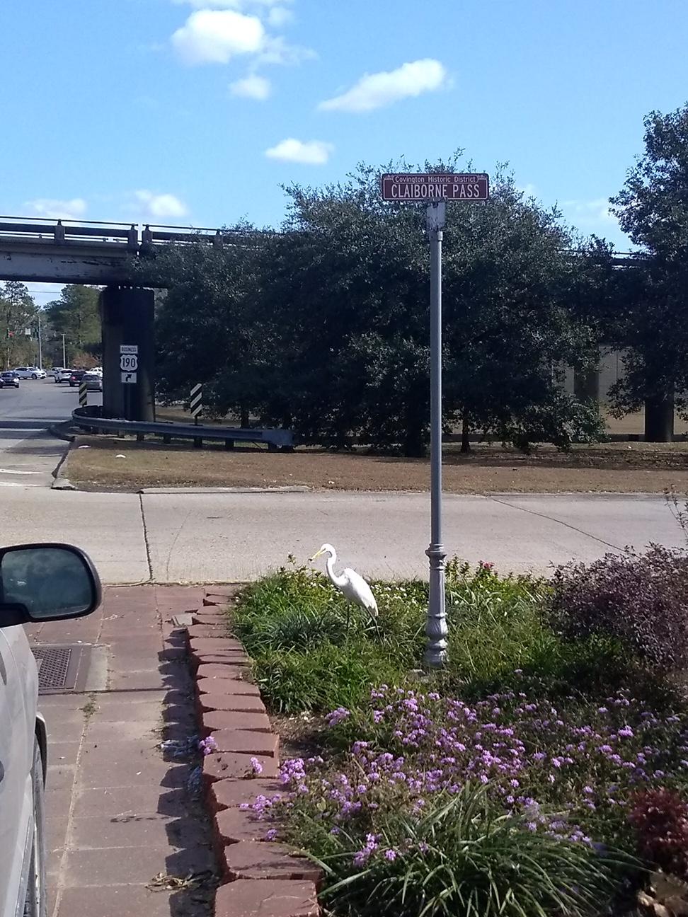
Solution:
<path fill-rule="evenodd" d="M 107 286 L 100 294 L 103 323 L 103 415 L 155 419 L 153 291 Z M 138 348 L 135 373 L 120 369 L 120 346 Z M 129 381 L 124 381 L 129 376 Z M 134 381 L 136 380 L 136 381 Z"/>

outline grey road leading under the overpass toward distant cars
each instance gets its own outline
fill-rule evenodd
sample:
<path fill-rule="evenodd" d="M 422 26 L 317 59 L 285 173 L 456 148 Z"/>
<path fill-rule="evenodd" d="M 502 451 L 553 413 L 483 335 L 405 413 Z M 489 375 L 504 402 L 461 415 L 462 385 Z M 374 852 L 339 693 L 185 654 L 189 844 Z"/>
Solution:
<path fill-rule="evenodd" d="M 64 455 L 65 443 L 47 427 L 67 420 L 79 390 L 52 379 L 26 379 L 18 389 L 0 389 L 0 488 L 45 487 Z M 89 392 L 98 403 L 99 392 Z"/>

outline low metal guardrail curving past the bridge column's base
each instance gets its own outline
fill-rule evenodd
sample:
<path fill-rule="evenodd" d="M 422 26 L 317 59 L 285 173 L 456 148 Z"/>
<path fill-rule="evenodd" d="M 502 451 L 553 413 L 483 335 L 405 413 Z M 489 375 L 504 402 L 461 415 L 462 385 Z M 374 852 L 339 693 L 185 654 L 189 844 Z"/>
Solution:
<path fill-rule="evenodd" d="M 289 450 L 294 447 L 294 434 L 291 430 L 117 420 L 113 417 L 99 416 L 100 410 L 98 404 L 78 407 L 72 411 L 72 420 L 75 425 L 95 433 L 128 433 L 139 439 L 149 434 L 150 436 L 162 436 L 163 442 L 170 442 L 172 439 L 191 439 L 194 441 L 194 446 L 202 446 L 204 439 L 208 439 L 224 442 L 227 448 L 232 448 L 235 442 L 265 443 L 269 452 L 277 449 Z"/>

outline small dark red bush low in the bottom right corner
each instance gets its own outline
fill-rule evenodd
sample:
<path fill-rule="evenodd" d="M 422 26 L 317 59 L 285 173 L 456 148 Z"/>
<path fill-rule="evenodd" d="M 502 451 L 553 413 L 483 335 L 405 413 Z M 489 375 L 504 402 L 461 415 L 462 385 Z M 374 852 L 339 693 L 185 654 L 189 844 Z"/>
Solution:
<path fill-rule="evenodd" d="M 628 817 L 640 855 L 664 872 L 688 878 L 688 803 L 671 790 L 647 790 Z"/>

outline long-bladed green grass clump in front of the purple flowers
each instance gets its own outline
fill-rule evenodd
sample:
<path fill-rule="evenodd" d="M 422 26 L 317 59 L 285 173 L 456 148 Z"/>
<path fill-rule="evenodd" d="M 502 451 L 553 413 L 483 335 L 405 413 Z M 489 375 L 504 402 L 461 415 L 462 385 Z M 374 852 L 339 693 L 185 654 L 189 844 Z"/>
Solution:
<path fill-rule="evenodd" d="M 309 848 L 327 876 L 324 903 L 361 917 L 594 914 L 614 887 L 611 862 L 590 847 L 532 831 L 471 785 L 419 818 L 388 813 L 375 834 L 313 823 Z"/>

